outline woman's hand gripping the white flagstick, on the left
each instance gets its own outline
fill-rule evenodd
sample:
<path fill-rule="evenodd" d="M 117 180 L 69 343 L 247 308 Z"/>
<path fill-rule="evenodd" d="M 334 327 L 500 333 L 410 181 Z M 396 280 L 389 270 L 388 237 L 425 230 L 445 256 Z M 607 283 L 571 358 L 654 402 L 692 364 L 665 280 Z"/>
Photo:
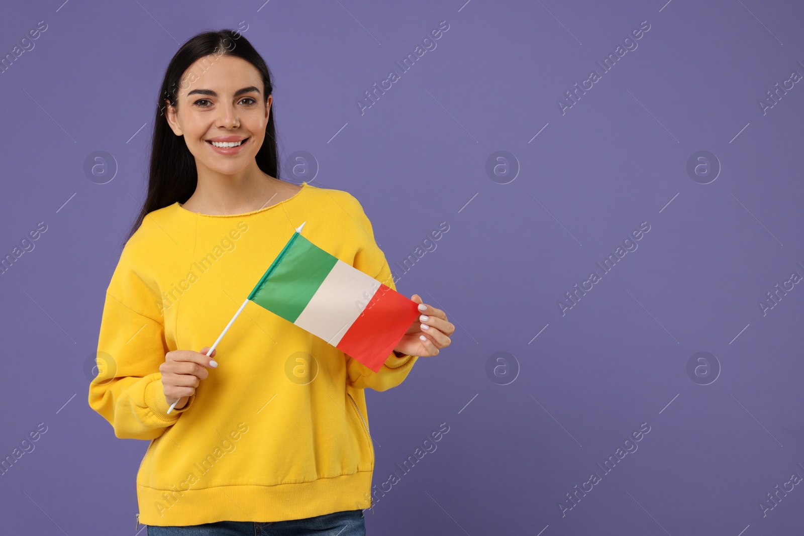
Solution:
<path fill-rule="evenodd" d="M 204 346 L 200 352 L 173 350 L 165 354 L 165 362 L 159 366 L 159 372 L 162 373 L 165 399 L 169 404 L 178 400 L 176 409 L 183 408 L 195 393 L 195 387 L 199 387 L 201 380 L 207 378 L 207 367 L 218 366 L 212 359 L 218 350 L 212 350 L 207 357 L 208 351 L 209 346 Z"/>

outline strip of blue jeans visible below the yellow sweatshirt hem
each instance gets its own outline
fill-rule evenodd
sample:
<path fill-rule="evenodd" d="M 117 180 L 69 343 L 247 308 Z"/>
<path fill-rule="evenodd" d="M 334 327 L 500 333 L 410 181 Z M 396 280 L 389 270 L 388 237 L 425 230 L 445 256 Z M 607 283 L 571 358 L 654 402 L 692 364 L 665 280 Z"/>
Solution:
<path fill-rule="evenodd" d="M 148 526 L 148 536 L 366 536 L 363 510 L 277 522 L 220 521 L 191 526 Z"/>

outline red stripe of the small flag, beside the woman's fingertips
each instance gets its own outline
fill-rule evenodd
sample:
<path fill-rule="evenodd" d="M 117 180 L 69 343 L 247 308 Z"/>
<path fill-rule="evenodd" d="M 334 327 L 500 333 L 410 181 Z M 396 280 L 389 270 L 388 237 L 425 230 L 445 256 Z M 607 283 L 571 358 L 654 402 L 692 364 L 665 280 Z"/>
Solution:
<path fill-rule="evenodd" d="M 379 372 L 419 316 L 418 307 L 415 301 L 380 283 L 366 308 L 343 334 L 338 350 Z"/>

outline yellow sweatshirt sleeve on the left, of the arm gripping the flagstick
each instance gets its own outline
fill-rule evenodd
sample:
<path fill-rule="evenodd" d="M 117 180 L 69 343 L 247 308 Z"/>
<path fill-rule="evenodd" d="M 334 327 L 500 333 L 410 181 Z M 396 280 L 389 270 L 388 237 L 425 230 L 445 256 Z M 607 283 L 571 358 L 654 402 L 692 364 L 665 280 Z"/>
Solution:
<path fill-rule="evenodd" d="M 129 267 L 125 251 L 106 291 L 96 354 L 97 375 L 89 384 L 89 406 L 108 420 L 115 436 L 152 440 L 191 406 L 167 414 L 170 405 L 159 366 L 169 351 L 158 294 Z M 126 305 L 136 304 L 134 306 Z M 146 313 L 139 312 L 146 311 Z M 150 313 L 150 314 L 147 314 Z"/>

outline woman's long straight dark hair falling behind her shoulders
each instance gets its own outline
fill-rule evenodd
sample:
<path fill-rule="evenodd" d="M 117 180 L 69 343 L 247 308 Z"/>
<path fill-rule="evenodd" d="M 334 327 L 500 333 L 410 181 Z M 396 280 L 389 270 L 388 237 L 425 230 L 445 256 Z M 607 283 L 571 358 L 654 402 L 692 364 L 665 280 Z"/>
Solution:
<path fill-rule="evenodd" d="M 265 59 L 252 47 L 248 39 L 239 31 L 220 30 L 206 31 L 193 36 L 178 49 L 167 66 L 162 88 L 156 102 L 154 120 L 154 137 L 151 141 L 150 174 L 148 178 L 148 194 L 137 219 L 125 237 L 123 244 L 142 224 L 142 220 L 149 212 L 169 207 L 173 203 L 185 203 L 195 192 L 198 184 L 198 170 L 195 169 L 195 157 L 184 137 L 176 136 L 165 117 L 165 99 L 170 100 L 173 106 L 178 105 L 179 85 L 183 83 L 182 76 L 197 59 L 210 56 L 215 61 L 220 55 L 232 55 L 245 59 L 251 63 L 262 75 L 265 91 L 265 102 L 273 93 L 271 72 Z M 279 178 L 279 158 L 277 154 L 276 130 L 274 117 L 276 104 L 271 104 L 271 113 L 268 125 L 265 125 L 265 141 L 259 152 L 256 153 L 256 165 L 263 173 Z"/>

